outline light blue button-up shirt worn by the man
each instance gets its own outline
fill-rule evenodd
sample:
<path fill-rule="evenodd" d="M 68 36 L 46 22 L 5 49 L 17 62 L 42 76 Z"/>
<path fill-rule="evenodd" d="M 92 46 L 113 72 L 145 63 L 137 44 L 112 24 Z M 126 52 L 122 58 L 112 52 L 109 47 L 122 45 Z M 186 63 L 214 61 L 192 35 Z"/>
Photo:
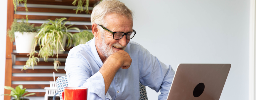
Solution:
<path fill-rule="evenodd" d="M 99 72 L 103 63 L 97 53 L 95 38 L 72 48 L 66 59 L 68 87 L 87 87 L 88 100 L 138 100 L 139 82 L 159 92 L 166 100 L 174 77 L 171 65 L 160 62 L 140 44 L 130 41 L 125 51 L 131 56 L 128 69 L 120 68 L 105 94 L 105 83 Z"/>

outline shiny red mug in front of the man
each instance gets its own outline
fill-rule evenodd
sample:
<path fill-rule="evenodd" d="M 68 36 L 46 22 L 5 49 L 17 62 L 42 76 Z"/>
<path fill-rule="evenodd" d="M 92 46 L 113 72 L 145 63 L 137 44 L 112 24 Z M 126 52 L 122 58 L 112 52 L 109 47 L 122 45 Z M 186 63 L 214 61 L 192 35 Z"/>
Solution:
<path fill-rule="evenodd" d="M 62 100 L 87 100 L 86 87 L 65 87 Z"/>

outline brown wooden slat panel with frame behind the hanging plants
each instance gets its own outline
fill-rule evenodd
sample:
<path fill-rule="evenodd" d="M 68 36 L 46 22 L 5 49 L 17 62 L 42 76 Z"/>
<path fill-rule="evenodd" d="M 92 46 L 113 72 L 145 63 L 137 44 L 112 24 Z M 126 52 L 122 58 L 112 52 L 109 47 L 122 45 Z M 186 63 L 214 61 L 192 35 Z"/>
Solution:
<path fill-rule="evenodd" d="M 59 1 L 54 1 L 54 0 L 27 0 L 27 4 L 48 4 L 48 5 L 66 5 L 66 6 L 73 6 L 71 3 L 74 0 L 62 0 L 62 2 Z M 93 7 L 95 5 L 96 2 L 98 2 L 100 0 L 90 0 L 89 6 Z M 41 6 L 42 7 L 42 6 Z M 68 13 L 68 14 L 75 14 L 76 12 L 73 9 L 63 9 L 63 8 L 37 8 L 36 7 L 29 7 L 28 8 L 29 12 L 37 12 L 37 13 Z M 24 12 L 25 8 L 24 7 L 18 7 L 17 12 Z M 13 19 L 26 19 L 26 15 L 23 15 L 21 13 L 18 14 L 14 14 L 14 6 L 12 3 L 12 0 L 8 0 L 8 11 L 7 11 L 7 29 L 9 29 L 9 27 L 11 26 L 11 23 L 13 22 Z M 92 10 L 89 10 L 89 12 L 91 13 Z M 85 11 L 78 12 L 78 14 L 86 14 Z M 88 15 L 87 15 L 88 16 Z M 56 18 L 63 18 L 63 16 L 50 16 L 48 15 L 44 15 L 44 14 L 39 14 L 39 15 L 28 15 L 28 19 L 29 20 L 46 20 L 46 19 L 51 19 L 51 20 L 55 20 Z M 74 17 L 74 16 L 66 16 L 67 21 L 79 21 L 79 22 L 90 22 L 90 18 L 86 18 L 86 17 Z M 34 22 L 33 21 L 33 22 Z M 35 24 L 35 26 L 41 26 L 42 23 L 31 23 L 31 24 Z M 68 26 L 68 25 L 66 25 Z M 86 27 L 87 26 L 87 27 Z M 78 27 L 82 30 L 91 30 L 91 25 L 73 25 L 73 27 Z M 71 32 L 71 33 L 75 33 L 75 32 Z M 72 47 L 71 47 L 72 48 Z M 69 51 L 71 48 L 65 48 L 65 51 Z M 16 55 L 16 58 L 28 58 L 27 54 L 28 53 L 15 53 L 13 52 L 13 50 L 16 50 L 16 45 L 13 45 L 13 43 L 10 42 L 9 37 L 6 37 L 6 70 L 5 70 L 5 85 L 6 86 L 11 86 L 11 87 L 16 87 L 18 86 L 18 82 L 22 81 L 22 82 L 41 82 L 41 81 L 52 81 L 53 77 L 48 77 L 49 74 L 52 74 L 52 72 L 55 72 L 56 74 L 62 75 L 65 74 L 65 70 L 62 68 L 58 69 L 58 72 L 55 71 L 53 69 L 53 62 L 49 61 L 49 62 L 44 62 L 43 60 L 40 60 L 40 62 L 38 63 L 38 65 L 40 66 L 52 66 L 52 69 L 42 69 L 42 68 L 36 68 L 37 66 L 35 66 L 34 70 L 32 69 L 27 69 L 27 70 L 22 70 L 21 68 L 17 68 L 17 66 L 23 66 L 26 64 L 26 61 L 19 61 L 16 59 L 15 61 L 15 65 L 12 65 L 12 59 L 11 59 L 11 55 Z M 39 47 L 36 47 L 36 50 L 39 50 Z M 59 54 L 58 58 L 66 58 L 68 56 L 68 54 Z M 38 57 L 38 54 L 36 54 L 36 57 Z M 56 55 L 54 55 L 53 57 L 49 57 L 49 58 L 56 58 Z M 16 68 L 13 68 L 13 66 L 16 66 Z M 60 66 L 65 66 L 65 61 L 61 61 L 61 65 Z M 40 73 L 48 73 L 48 76 L 29 76 L 29 75 L 35 75 L 35 74 L 40 74 Z M 25 76 L 19 76 L 19 75 L 24 75 L 27 74 Z M 14 75 L 14 76 L 12 76 Z M 29 76 L 29 77 L 28 77 Z M 56 75 L 55 75 L 56 76 Z M 55 77 L 55 80 L 58 77 Z M 12 81 L 15 81 L 15 84 L 12 84 Z M 50 83 L 49 83 L 50 84 Z M 27 89 L 44 89 L 44 87 L 49 87 L 49 84 L 22 84 L 24 88 Z M 5 90 L 4 91 L 5 94 L 10 94 L 10 90 Z M 32 92 L 29 92 L 32 93 Z M 43 96 L 45 95 L 45 92 L 35 92 L 35 95 L 31 95 L 31 96 L 38 96 L 41 99 L 44 98 Z M 28 93 L 26 93 L 28 94 Z M 10 96 L 4 96 L 4 100 L 10 100 Z"/>

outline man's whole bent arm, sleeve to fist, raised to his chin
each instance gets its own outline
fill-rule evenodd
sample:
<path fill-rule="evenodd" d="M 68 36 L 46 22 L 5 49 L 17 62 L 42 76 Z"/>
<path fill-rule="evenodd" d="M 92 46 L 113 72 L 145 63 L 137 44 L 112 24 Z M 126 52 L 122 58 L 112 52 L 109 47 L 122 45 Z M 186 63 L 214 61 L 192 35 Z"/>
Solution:
<path fill-rule="evenodd" d="M 108 88 L 110 87 L 115 73 L 121 66 L 123 69 L 129 68 L 131 64 L 129 54 L 125 51 L 118 51 L 112 54 L 100 69 L 98 66 L 92 64 L 93 61 L 88 63 L 82 54 L 71 54 L 73 50 L 71 49 L 65 63 L 68 86 L 87 87 L 88 100 L 111 99 L 107 93 Z M 92 71 L 95 73 L 94 75 L 92 75 Z"/>

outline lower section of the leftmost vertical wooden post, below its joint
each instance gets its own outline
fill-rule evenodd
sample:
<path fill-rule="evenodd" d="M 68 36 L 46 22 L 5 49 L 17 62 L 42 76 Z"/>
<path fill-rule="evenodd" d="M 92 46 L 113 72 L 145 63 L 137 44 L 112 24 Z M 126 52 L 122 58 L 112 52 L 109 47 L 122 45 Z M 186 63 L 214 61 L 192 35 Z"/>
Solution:
<path fill-rule="evenodd" d="M 5 61 L 5 86 L 11 86 L 11 75 L 12 75 L 12 63 L 11 59 L 6 59 Z M 11 90 L 4 89 L 4 94 L 10 94 Z M 4 100 L 10 100 L 10 96 L 4 96 Z"/>

